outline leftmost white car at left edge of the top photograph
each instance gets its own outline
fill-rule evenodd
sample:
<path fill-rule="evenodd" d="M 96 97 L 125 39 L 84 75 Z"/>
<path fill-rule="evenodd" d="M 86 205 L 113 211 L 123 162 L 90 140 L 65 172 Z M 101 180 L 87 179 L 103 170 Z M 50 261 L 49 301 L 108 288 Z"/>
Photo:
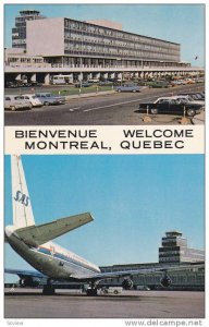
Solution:
<path fill-rule="evenodd" d="M 21 109 L 32 109 L 32 104 L 25 100 L 22 96 L 5 95 L 4 109 L 12 110 L 12 111 L 21 110 Z"/>

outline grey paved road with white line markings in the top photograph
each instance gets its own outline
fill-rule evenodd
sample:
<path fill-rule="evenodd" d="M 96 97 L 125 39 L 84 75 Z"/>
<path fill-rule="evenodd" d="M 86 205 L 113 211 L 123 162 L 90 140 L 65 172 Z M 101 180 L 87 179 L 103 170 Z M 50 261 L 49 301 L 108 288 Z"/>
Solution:
<path fill-rule="evenodd" d="M 5 125 L 140 125 L 137 112 L 142 101 L 153 101 L 159 96 L 173 95 L 186 89 L 202 89 L 200 85 L 169 89 L 144 89 L 139 94 L 110 94 L 70 99 L 62 106 L 49 106 L 29 111 L 5 111 Z M 179 117 L 158 114 L 149 124 L 179 124 Z"/>

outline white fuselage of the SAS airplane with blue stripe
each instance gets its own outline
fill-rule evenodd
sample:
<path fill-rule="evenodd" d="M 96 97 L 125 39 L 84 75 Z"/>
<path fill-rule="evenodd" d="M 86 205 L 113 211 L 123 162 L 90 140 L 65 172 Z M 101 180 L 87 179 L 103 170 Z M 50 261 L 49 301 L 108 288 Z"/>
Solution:
<path fill-rule="evenodd" d="M 66 249 L 53 242 L 30 246 L 23 242 L 15 231 L 5 228 L 7 241 L 27 263 L 44 275 L 54 279 L 88 279 L 100 269 Z"/>

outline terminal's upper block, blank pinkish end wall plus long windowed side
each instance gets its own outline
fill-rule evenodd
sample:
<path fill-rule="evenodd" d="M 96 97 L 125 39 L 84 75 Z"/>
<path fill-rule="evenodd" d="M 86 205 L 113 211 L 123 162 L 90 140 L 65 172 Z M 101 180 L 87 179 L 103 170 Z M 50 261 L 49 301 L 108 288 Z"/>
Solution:
<path fill-rule="evenodd" d="M 27 22 L 27 53 L 41 55 L 51 64 L 101 66 L 175 66 L 181 46 L 175 43 L 127 33 L 71 19 Z M 104 24 L 103 24 L 104 25 Z"/>

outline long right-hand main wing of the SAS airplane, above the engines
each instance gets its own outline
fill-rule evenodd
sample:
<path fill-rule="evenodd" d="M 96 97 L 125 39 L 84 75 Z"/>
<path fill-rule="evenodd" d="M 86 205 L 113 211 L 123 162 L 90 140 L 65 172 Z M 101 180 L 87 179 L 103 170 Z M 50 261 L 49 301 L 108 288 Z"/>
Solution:
<path fill-rule="evenodd" d="M 110 272 L 99 272 L 94 276 L 95 280 L 99 279 L 108 279 L 108 278 L 116 278 L 116 277 L 128 277 L 134 275 L 144 275 L 144 274 L 153 274 L 153 272 L 167 272 L 167 271 L 176 271 L 176 270 L 185 270 L 185 269 L 198 269 L 204 268 L 205 264 L 194 263 L 194 264 L 185 264 L 185 265 L 173 265 L 173 266 L 163 266 L 162 267 L 153 267 L 153 268 L 140 268 L 140 269 L 130 269 L 122 271 L 110 271 Z"/>

